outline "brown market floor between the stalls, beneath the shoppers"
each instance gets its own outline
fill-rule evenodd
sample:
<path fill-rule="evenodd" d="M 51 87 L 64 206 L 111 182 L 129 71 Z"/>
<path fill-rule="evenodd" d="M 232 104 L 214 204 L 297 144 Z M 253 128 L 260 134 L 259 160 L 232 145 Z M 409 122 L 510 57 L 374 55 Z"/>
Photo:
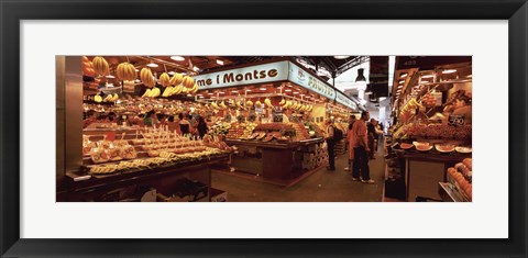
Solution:
<path fill-rule="evenodd" d="M 282 188 L 229 175 L 212 173 L 212 187 L 228 192 L 230 202 L 381 202 L 384 186 L 384 158 L 382 153 L 371 160 L 371 177 L 375 184 L 352 181 L 344 171 L 348 158 L 336 159 L 336 171 L 319 169 L 299 183 Z"/>

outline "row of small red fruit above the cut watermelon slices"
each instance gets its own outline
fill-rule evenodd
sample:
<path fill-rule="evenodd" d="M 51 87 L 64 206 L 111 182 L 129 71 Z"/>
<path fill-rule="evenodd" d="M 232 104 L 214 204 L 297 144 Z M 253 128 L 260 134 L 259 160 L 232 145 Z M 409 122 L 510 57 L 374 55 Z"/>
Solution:
<path fill-rule="evenodd" d="M 405 139 L 413 137 L 437 139 L 471 139 L 471 125 L 451 126 L 443 124 L 406 124 L 394 133 L 394 138 Z"/>

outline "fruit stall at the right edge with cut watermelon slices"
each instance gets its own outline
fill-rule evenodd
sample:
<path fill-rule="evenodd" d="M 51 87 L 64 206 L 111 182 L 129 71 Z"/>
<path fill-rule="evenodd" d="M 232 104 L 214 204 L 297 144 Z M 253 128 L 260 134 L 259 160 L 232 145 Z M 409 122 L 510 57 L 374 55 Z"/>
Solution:
<path fill-rule="evenodd" d="M 406 201 L 471 201 L 471 63 L 402 69 L 395 78 L 391 149 L 402 160 Z"/>

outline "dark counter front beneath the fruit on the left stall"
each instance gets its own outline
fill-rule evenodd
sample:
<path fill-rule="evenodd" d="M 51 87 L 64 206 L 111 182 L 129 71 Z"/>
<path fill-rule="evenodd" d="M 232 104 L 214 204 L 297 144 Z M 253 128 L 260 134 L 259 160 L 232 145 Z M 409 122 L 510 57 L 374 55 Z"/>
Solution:
<path fill-rule="evenodd" d="M 62 186 L 62 191 L 67 192 L 68 200 L 66 201 L 79 201 L 85 200 L 88 195 L 96 195 L 96 192 L 100 193 L 134 184 L 150 186 L 163 191 L 169 188 L 170 182 L 182 177 L 199 179 L 210 186 L 210 166 L 228 160 L 229 154 L 220 154 L 167 166 L 143 167 L 143 169 L 136 168 L 109 175 L 90 175 L 87 169 L 69 171 L 66 172 L 66 176 L 70 180 Z M 87 180 L 77 181 L 87 176 L 91 177 Z"/>

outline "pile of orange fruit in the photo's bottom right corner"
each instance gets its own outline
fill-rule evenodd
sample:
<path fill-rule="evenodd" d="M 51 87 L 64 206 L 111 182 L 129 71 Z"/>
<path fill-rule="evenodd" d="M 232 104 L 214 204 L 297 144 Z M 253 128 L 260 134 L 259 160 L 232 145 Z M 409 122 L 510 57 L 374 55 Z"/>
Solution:
<path fill-rule="evenodd" d="M 473 199 L 472 189 L 472 162 L 471 158 L 464 158 L 462 162 L 458 162 L 454 167 L 448 168 L 448 180 L 455 186 L 459 192 L 471 201 Z"/>

